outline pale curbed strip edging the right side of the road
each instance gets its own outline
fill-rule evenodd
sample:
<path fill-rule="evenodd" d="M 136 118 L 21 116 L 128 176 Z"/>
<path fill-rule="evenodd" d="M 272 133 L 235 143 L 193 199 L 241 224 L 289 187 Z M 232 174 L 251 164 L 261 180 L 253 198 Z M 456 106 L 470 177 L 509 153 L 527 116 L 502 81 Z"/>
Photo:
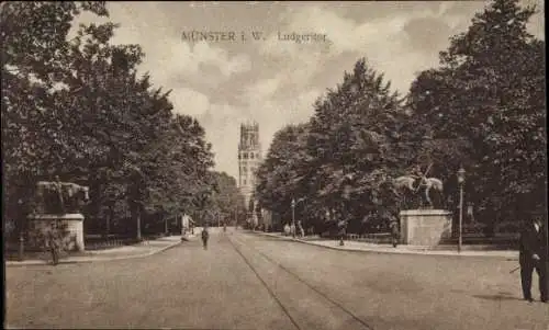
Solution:
<path fill-rule="evenodd" d="M 283 236 L 277 236 L 277 235 L 271 235 L 267 232 L 258 232 L 258 231 L 249 231 L 250 234 L 257 234 L 257 235 L 262 235 L 262 236 L 268 236 L 268 237 L 274 237 L 288 241 L 293 241 L 293 242 L 299 242 L 303 244 L 310 244 L 310 246 L 315 246 L 320 248 L 326 248 L 326 249 L 332 249 L 332 250 L 338 250 L 338 251 L 348 251 L 348 252 L 362 252 L 362 253 L 391 253 L 391 254 L 414 254 L 414 255 L 440 255 L 440 257 L 458 257 L 458 258 L 493 258 L 493 259 L 504 259 L 507 261 L 516 261 L 518 260 L 518 255 L 516 257 L 509 257 L 509 255 L 502 255 L 502 254 L 483 254 L 483 253 L 478 253 L 478 254 L 470 254 L 470 253 L 462 253 L 458 254 L 457 252 L 453 251 L 445 251 L 445 250 L 425 250 L 425 251 L 415 251 L 415 250 L 394 250 L 394 251 L 388 251 L 388 250 L 379 250 L 378 248 L 369 248 L 366 247 L 365 249 L 349 249 L 348 247 L 339 247 L 339 246 L 326 246 L 326 244 L 318 244 L 312 241 L 306 241 L 306 240 L 301 240 L 301 239 L 294 239 L 291 237 L 283 237 Z M 334 241 L 335 242 L 335 241 Z"/>

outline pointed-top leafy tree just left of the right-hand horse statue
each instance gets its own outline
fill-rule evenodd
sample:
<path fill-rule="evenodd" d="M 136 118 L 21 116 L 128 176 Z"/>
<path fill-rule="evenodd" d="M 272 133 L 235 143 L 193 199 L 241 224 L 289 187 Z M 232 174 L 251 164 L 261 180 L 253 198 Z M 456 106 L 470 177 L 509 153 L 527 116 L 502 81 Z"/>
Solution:
<path fill-rule="evenodd" d="M 391 205 L 389 183 L 403 163 L 395 146 L 404 115 L 399 94 L 365 59 L 316 103 L 309 151 L 322 204 L 352 220 Z"/>

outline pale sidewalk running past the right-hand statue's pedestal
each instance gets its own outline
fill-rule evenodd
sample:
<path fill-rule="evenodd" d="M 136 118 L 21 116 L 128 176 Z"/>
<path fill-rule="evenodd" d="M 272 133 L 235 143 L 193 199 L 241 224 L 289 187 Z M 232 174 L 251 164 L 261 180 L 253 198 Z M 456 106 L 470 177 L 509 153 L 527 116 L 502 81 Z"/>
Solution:
<path fill-rule="evenodd" d="M 397 253 L 397 254 L 424 254 L 424 255 L 455 255 L 455 257 L 490 257 L 490 258 L 502 258 L 507 260 L 518 260 L 518 251 L 515 250 L 488 250 L 488 251 L 474 251 L 468 250 L 469 247 L 464 246 L 461 252 L 458 253 L 457 247 L 451 249 L 444 249 L 444 246 L 433 247 L 422 247 L 422 246 L 405 246 L 401 244 L 393 248 L 391 244 L 374 244 L 367 242 L 357 241 L 345 241 L 345 246 L 339 246 L 339 240 L 307 240 L 307 239 L 293 239 L 291 236 L 283 236 L 280 232 L 262 232 L 262 231 L 249 231 L 254 234 L 259 234 L 264 236 L 277 237 L 280 239 L 296 241 L 301 243 L 324 247 L 334 250 L 344 251 L 365 251 L 365 252 L 377 252 L 377 253 Z M 451 249 L 451 250 L 450 250 Z"/>

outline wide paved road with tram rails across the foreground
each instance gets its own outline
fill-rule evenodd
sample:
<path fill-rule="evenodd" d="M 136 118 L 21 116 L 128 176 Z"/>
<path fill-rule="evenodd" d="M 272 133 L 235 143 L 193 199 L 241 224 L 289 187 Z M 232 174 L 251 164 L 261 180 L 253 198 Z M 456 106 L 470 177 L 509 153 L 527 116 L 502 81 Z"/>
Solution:
<path fill-rule="evenodd" d="M 126 261 L 5 270 L 8 326 L 187 329 L 549 329 L 515 262 L 335 251 L 213 232 Z"/>

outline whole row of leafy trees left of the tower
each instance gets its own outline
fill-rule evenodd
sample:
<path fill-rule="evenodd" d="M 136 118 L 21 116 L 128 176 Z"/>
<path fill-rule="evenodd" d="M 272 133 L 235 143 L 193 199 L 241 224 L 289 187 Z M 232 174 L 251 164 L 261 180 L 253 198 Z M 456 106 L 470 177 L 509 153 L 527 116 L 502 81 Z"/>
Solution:
<path fill-rule="evenodd" d="M 2 3 L 4 216 L 24 218 L 36 181 L 54 175 L 90 186 L 91 221 L 130 216 L 138 236 L 143 215 L 208 207 L 216 174 L 204 129 L 137 73 L 138 45 L 112 44 L 115 24 L 69 36 L 85 11 L 109 15 L 96 1 Z"/>

